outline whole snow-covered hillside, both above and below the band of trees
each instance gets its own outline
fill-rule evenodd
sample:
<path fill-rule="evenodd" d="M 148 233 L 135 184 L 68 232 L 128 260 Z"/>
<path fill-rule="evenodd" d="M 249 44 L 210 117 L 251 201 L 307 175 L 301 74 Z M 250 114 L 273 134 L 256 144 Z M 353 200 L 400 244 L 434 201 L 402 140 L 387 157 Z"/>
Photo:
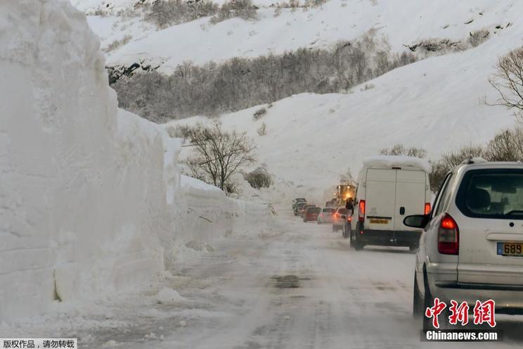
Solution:
<path fill-rule="evenodd" d="M 262 7 L 257 21 L 233 18 L 211 25 L 209 18 L 201 18 L 144 31 L 107 56 L 109 65 L 145 60 L 161 64 L 160 71 L 168 73 L 187 60 L 201 64 L 299 47 L 325 48 L 369 30 L 396 52 L 425 39 L 463 41 L 475 30 L 488 30 L 488 40 L 474 49 L 393 70 L 349 94 L 291 96 L 273 103 L 258 121 L 252 114 L 261 106 L 221 117 L 226 127 L 245 130 L 255 139 L 260 162 L 277 178 L 276 187 L 278 182 L 283 184 L 280 188 L 291 184 L 289 196 L 319 201 L 340 174 L 349 167 L 356 173 L 363 158 L 381 148 L 397 143 L 419 146 L 437 158 L 458 146 L 484 143 L 499 129 L 512 127 L 509 110 L 485 106 L 480 100 L 496 99 L 488 79 L 498 56 L 523 44 L 519 13 L 523 3 L 513 0 L 331 0 L 306 11 L 284 8 L 276 16 L 273 8 Z M 101 37 L 115 35 L 117 25 L 108 30 L 96 20 L 115 18 L 90 19 Z M 262 122 L 268 133 L 260 137 L 257 129 Z M 277 189 L 273 196 L 287 199 Z"/>

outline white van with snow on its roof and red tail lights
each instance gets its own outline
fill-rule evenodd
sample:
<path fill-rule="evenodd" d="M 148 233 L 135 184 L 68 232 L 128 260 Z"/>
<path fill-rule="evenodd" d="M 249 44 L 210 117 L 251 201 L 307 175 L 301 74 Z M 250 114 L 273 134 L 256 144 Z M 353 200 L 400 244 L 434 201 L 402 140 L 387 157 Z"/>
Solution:
<path fill-rule="evenodd" d="M 418 248 L 420 229 L 407 227 L 403 219 L 430 213 L 430 171 L 429 163 L 419 158 L 367 159 L 358 177 L 353 219 L 345 228 L 351 229 L 351 246 L 356 250 L 366 245 Z"/>

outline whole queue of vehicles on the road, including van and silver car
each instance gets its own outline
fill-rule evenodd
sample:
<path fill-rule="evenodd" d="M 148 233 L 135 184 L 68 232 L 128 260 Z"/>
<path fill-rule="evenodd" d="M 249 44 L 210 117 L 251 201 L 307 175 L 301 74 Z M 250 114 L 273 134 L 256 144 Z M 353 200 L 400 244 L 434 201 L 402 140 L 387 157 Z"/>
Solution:
<path fill-rule="evenodd" d="M 496 312 L 523 315 L 523 163 L 470 158 L 446 175 L 436 196 L 422 160 L 381 156 L 366 160 L 354 198 L 345 207 L 293 202 L 304 222 L 332 223 L 351 248 L 418 249 L 413 315 L 424 330 L 434 298 L 450 303 L 492 299 Z M 446 318 L 446 322 L 445 322 Z M 448 317 L 440 324 L 448 326 Z"/>

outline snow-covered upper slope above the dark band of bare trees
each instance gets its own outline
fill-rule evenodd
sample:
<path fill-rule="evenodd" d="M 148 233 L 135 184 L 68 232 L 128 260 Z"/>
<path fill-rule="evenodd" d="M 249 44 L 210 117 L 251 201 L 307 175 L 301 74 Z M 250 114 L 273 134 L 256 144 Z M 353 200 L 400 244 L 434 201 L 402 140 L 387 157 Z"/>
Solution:
<path fill-rule="evenodd" d="M 428 38 L 464 40 L 470 32 L 484 28 L 492 37 L 503 30 L 496 27 L 517 22 L 522 12 L 521 1 L 508 0 L 330 0 L 306 11 L 284 8 L 276 17 L 273 8 L 260 8 L 256 21 L 233 18 L 212 25 L 209 18 L 200 18 L 158 31 L 148 25 L 148 30 L 135 31 L 139 17 L 127 20 L 127 24 L 122 18 L 92 18 L 90 24 L 104 45 L 124 35 L 132 37 L 108 53 L 108 65 L 146 60 L 162 63 L 160 70 L 171 72 L 183 61 L 201 64 L 300 47 L 330 47 L 369 30 L 387 39 L 393 51 L 403 51 L 404 45 Z"/>

